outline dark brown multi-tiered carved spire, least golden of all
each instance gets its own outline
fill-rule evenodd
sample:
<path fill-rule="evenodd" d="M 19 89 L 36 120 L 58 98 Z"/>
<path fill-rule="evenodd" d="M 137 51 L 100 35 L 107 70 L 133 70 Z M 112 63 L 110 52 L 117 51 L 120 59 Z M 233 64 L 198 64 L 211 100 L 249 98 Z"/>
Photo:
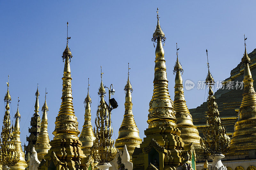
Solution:
<path fill-rule="evenodd" d="M 38 84 L 37 84 L 37 89 L 36 89 L 36 103 L 35 103 L 35 113 L 33 114 L 33 116 L 31 117 L 31 121 L 30 121 L 30 126 L 31 128 L 28 128 L 28 132 L 29 137 L 27 137 L 27 141 L 28 141 L 28 145 L 25 146 L 25 150 L 26 150 L 26 155 L 25 158 L 27 158 L 28 156 L 28 152 L 29 155 L 31 155 L 31 149 L 34 147 L 34 145 L 36 144 L 38 135 L 40 133 L 40 127 L 41 127 L 41 119 L 40 119 L 40 115 L 39 115 L 39 91 L 38 91 Z"/>

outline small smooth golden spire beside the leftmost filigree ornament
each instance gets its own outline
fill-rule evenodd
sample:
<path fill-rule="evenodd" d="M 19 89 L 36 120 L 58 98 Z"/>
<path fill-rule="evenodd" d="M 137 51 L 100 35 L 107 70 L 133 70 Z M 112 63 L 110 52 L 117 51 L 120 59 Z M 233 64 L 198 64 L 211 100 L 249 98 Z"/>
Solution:
<path fill-rule="evenodd" d="M 24 170 L 28 165 L 25 160 L 25 153 L 22 151 L 21 148 L 21 142 L 20 142 L 20 112 L 19 112 L 19 97 L 18 97 L 18 106 L 17 106 L 17 112 L 14 115 L 15 118 L 15 125 L 13 128 L 13 138 L 14 138 L 14 146 L 15 151 L 19 152 L 20 154 L 20 160 L 17 164 L 13 165 L 11 168 L 14 170 Z"/>

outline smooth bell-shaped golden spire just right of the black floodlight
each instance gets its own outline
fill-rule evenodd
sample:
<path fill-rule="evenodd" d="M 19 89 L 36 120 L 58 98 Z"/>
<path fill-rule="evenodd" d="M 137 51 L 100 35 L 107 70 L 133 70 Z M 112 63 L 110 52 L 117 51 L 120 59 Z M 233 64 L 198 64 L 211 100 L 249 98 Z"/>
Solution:
<path fill-rule="evenodd" d="M 124 145 L 126 144 L 127 150 L 130 154 L 130 158 L 132 159 L 132 153 L 134 151 L 134 148 L 140 147 L 142 139 L 139 135 L 139 129 L 137 128 L 137 125 L 134 121 L 133 114 L 132 114 L 132 85 L 130 83 L 129 79 L 129 63 L 128 63 L 128 80 L 127 84 L 124 86 L 124 91 L 126 93 L 125 95 L 125 103 L 124 103 L 124 119 L 121 124 L 121 127 L 118 131 L 118 138 L 115 142 L 115 147 L 119 151 L 124 150 Z"/>

